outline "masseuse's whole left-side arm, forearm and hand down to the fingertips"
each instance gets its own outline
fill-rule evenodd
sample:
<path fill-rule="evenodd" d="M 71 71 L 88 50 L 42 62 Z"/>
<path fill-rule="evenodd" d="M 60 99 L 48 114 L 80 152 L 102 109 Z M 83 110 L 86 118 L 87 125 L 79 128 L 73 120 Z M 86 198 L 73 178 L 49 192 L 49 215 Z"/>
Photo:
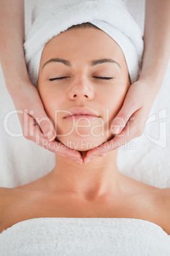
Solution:
<path fill-rule="evenodd" d="M 0 24 L 0 34 L 3 34 L 0 36 L 1 66 L 15 108 L 22 112 L 18 113 L 18 117 L 23 136 L 51 152 L 82 162 L 79 152 L 54 141 L 56 132 L 53 123 L 44 111 L 36 87 L 30 83 L 23 51 L 24 1 L 0 0 Z"/>

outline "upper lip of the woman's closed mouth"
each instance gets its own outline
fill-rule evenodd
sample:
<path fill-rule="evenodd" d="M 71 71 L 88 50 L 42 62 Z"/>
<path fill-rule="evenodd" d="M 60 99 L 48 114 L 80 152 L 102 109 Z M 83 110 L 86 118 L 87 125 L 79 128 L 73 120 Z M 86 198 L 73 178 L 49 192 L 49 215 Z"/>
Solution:
<path fill-rule="evenodd" d="M 88 108 L 70 108 L 70 110 L 68 110 L 69 113 L 67 113 L 67 115 L 65 115 L 64 118 L 67 117 L 76 117 L 79 116 L 91 116 L 91 117 L 100 117 L 100 115 L 98 115 L 98 113 L 96 113 L 95 111 L 89 110 Z"/>

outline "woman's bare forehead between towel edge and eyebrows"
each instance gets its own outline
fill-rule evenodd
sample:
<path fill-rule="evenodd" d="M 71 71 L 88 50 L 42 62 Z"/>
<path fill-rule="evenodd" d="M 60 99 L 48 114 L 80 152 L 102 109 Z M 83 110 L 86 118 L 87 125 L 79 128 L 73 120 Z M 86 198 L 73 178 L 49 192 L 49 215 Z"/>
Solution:
<path fill-rule="evenodd" d="M 121 47 L 115 43 L 114 39 L 94 28 L 70 29 L 48 41 L 42 51 L 41 69 L 46 62 L 53 59 L 84 62 L 89 66 L 89 62 L 99 59 L 112 59 L 113 62 L 118 63 L 118 66 L 122 66 L 122 62 L 125 62 Z M 93 66 L 92 63 L 91 66 Z"/>

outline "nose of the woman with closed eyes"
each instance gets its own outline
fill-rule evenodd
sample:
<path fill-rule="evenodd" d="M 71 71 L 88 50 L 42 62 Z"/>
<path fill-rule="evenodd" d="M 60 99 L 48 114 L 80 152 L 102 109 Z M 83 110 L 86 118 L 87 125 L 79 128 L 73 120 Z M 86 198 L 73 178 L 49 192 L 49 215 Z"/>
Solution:
<path fill-rule="evenodd" d="M 69 99 L 91 100 L 94 95 L 93 85 L 90 85 L 85 78 L 79 78 L 70 86 Z"/>

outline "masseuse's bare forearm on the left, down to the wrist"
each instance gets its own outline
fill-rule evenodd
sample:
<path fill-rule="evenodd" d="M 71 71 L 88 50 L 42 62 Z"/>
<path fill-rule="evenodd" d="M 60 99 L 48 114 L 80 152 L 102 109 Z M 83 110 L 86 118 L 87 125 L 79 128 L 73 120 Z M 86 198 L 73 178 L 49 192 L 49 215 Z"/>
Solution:
<path fill-rule="evenodd" d="M 24 1 L 0 0 L 0 61 L 10 94 L 29 80 L 25 64 Z"/>

